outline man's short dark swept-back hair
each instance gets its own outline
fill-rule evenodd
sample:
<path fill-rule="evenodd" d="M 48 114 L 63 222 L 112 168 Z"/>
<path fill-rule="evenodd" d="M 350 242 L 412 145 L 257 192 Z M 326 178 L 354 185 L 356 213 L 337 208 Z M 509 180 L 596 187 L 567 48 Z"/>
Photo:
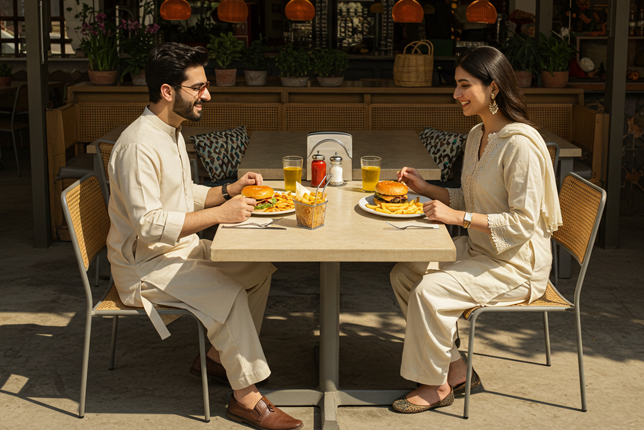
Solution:
<path fill-rule="evenodd" d="M 145 80 L 150 102 L 161 100 L 161 86 L 181 85 L 186 80 L 186 69 L 208 64 L 208 50 L 202 46 L 190 47 L 182 43 L 162 43 L 150 51 L 145 65 Z"/>

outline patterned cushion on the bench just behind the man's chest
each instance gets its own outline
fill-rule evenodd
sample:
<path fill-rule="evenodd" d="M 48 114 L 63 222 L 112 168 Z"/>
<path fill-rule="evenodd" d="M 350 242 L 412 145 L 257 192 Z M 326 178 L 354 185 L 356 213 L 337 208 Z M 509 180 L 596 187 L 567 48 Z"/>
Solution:
<path fill-rule="evenodd" d="M 248 148 L 246 126 L 190 136 L 210 180 L 221 181 L 237 176 L 237 169 Z"/>

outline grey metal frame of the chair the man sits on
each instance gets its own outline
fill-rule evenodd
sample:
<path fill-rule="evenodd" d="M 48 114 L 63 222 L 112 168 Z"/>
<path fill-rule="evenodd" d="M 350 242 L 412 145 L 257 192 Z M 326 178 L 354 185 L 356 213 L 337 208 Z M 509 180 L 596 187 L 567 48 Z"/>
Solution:
<path fill-rule="evenodd" d="M 91 182 L 85 184 L 86 181 L 91 181 Z M 91 337 L 91 331 L 92 331 L 92 318 L 93 317 L 112 317 L 113 318 L 110 365 L 109 365 L 110 370 L 114 369 L 114 361 L 115 361 L 115 353 L 116 353 L 116 337 L 118 332 L 119 317 L 139 316 L 139 317 L 147 318 L 147 314 L 143 308 L 128 308 L 128 309 L 113 309 L 113 310 L 98 309 L 101 303 L 103 302 L 103 300 L 105 300 L 105 298 L 109 294 L 109 292 L 113 288 L 115 288 L 114 283 L 111 281 L 109 284 L 109 288 L 107 289 L 103 298 L 101 298 L 101 300 L 99 300 L 96 303 L 96 305 L 93 304 L 92 290 L 90 288 L 87 272 L 92 261 L 94 261 L 94 259 L 96 259 L 106 249 L 106 247 L 103 242 L 104 238 L 100 238 L 101 243 L 103 245 L 102 248 L 94 252 L 93 255 L 90 255 L 88 253 L 87 255 L 88 262 L 87 262 L 87 265 L 85 264 L 85 261 L 83 259 L 83 254 L 81 251 L 81 245 L 78 240 L 78 234 L 82 233 L 84 238 L 83 243 L 87 243 L 86 239 L 91 238 L 96 233 L 94 231 L 84 231 L 82 225 L 80 226 L 80 231 L 77 232 L 78 226 L 74 224 L 71 211 L 68 205 L 68 199 L 67 199 L 67 195 L 71 191 L 73 191 L 77 187 L 83 186 L 83 184 L 85 184 L 84 186 L 91 187 L 90 191 L 92 192 L 102 193 L 100 184 L 98 182 L 98 178 L 96 178 L 96 176 L 93 174 L 89 174 L 79 179 L 78 181 L 74 182 L 67 189 L 65 189 L 65 191 L 63 191 L 63 193 L 61 194 L 63 212 L 65 214 L 65 220 L 67 221 L 67 225 L 69 226 L 69 233 L 72 239 L 72 245 L 74 247 L 74 254 L 76 255 L 78 268 L 81 274 L 81 280 L 83 281 L 83 287 L 85 290 L 85 298 L 87 303 L 87 313 L 85 318 L 85 341 L 84 341 L 84 347 L 83 347 L 83 365 L 82 365 L 82 373 L 81 373 L 81 395 L 80 395 L 80 402 L 79 402 L 79 409 L 78 409 L 78 416 L 80 418 L 83 418 L 85 416 L 85 398 L 87 394 L 87 371 L 89 366 L 89 346 L 90 346 L 90 337 Z M 101 200 L 101 201 L 104 201 L 104 200 Z M 103 218 L 107 219 L 109 222 L 106 206 L 100 205 L 100 204 L 94 204 L 90 210 L 103 211 L 104 212 Z M 88 217 L 88 218 L 91 219 L 91 217 Z M 199 352 L 201 356 L 201 382 L 202 382 L 203 400 L 204 400 L 204 417 L 205 417 L 205 421 L 209 422 L 210 421 L 210 402 L 208 398 L 208 379 L 207 379 L 207 369 L 206 369 L 206 346 L 205 346 L 205 339 L 204 339 L 204 336 L 205 336 L 204 327 L 201 321 L 199 321 L 199 319 L 197 319 L 192 313 L 190 313 L 185 309 L 158 307 L 157 310 L 159 314 L 190 315 L 193 318 L 195 318 L 195 320 L 197 321 L 197 327 L 199 331 Z"/>

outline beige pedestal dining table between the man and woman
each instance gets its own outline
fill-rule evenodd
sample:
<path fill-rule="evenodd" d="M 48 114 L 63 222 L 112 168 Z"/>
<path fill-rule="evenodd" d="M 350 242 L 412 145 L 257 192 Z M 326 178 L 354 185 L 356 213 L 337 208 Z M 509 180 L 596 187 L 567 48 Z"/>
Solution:
<path fill-rule="evenodd" d="M 265 181 L 276 191 L 283 181 Z M 303 185 L 310 183 L 303 182 Z M 309 189 L 312 190 L 312 189 Z M 445 262 L 456 259 L 454 243 L 444 225 L 438 228 L 398 230 L 394 225 L 435 227 L 424 215 L 385 217 L 360 206 L 367 196 L 359 181 L 326 189 L 327 207 L 322 227 L 298 227 L 293 213 L 271 216 L 278 221 L 267 228 L 219 228 L 211 247 L 217 262 L 315 262 L 320 264 L 319 386 L 317 388 L 262 390 L 276 405 L 318 406 L 321 428 L 340 429 L 339 406 L 389 405 L 408 390 L 351 390 L 339 386 L 340 271 L 347 262 Z M 413 197 L 413 196 L 410 196 Z M 253 216 L 257 220 L 266 217 Z M 365 276 L 369 276 L 365 273 Z"/>

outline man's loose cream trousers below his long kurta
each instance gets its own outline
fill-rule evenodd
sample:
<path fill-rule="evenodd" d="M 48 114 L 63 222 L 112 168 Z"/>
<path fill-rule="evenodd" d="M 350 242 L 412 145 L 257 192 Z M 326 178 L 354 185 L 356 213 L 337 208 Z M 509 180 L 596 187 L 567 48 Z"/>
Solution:
<path fill-rule="evenodd" d="M 252 270 L 252 267 L 249 267 L 249 270 Z M 269 275 L 262 282 L 240 290 L 223 323 L 187 307 L 156 287 L 143 286 L 141 295 L 155 304 L 188 309 L 199 318 L 206 328 L 210 343 L 219 351 L 230 386 L 233 390 L 241 390 L 263 381 L 271 374 L 259 342 L 270 286 Z M 166 320 L 166 323 L 169 321 Z"/>

